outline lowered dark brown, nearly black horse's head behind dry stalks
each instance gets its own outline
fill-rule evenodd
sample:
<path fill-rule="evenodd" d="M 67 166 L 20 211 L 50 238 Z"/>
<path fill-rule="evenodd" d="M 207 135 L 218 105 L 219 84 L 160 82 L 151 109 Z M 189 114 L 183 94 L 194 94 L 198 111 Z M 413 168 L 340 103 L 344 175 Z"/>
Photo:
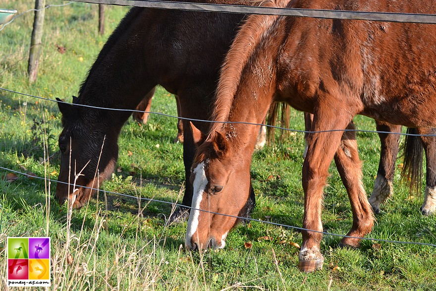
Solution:
<path fill-rule="evenodd" d="M 62 113 L 63 130 L 59 136 L 60 171 L 55 197 L 59 204 L 68 200 L 73 208 L 88 202 L 94 190 L 112 174 L 118 157 L 119 132 L 103 120 L 110 113 L 63 103 L 57 99 Z M 105 118 L 101 118 L 105 115 Z"/>

